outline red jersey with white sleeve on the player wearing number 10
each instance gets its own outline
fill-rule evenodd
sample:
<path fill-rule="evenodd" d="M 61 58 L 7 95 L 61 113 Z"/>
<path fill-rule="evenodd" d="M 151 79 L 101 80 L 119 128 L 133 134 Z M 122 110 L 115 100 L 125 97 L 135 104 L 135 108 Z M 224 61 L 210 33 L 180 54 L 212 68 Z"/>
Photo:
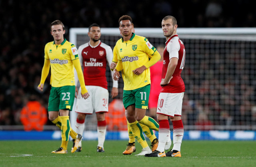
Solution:
<path fill-rule="evenodd" d="M 180 76 L 184 64 L 185 64 L 185 47 L 183 42 L 175 34 L 166 41 L 166 47 L 164 48 L 164 62 L 162 69 L 162 79 L 165 78 L 168 64 L 171 58 L 178 58 L 178 64 L 172 75 L 172 80 L 168 85 L 162 87 L 163 93 L 182 93 L 185 91 L 184 82 Z"/>

